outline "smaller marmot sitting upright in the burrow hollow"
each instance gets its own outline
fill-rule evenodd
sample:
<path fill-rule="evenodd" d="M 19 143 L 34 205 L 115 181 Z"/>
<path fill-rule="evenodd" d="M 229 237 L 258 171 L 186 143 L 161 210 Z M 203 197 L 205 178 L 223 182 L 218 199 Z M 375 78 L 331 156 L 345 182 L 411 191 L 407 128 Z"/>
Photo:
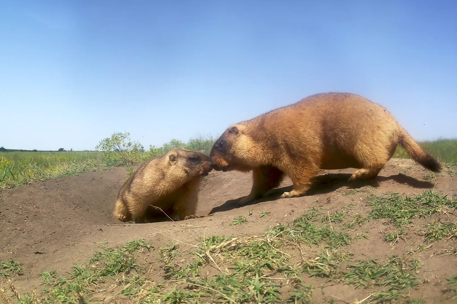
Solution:
<path fill-rule="evenodd" d="M 122 185 L 114 216 L 123 222 L 144 222 L 149 205 L 161 208 L 173 220 L 195 215 L 198 189 L 212 170 L 211 159 L 197 151 L 172 149 L 141 165 Z"/>

